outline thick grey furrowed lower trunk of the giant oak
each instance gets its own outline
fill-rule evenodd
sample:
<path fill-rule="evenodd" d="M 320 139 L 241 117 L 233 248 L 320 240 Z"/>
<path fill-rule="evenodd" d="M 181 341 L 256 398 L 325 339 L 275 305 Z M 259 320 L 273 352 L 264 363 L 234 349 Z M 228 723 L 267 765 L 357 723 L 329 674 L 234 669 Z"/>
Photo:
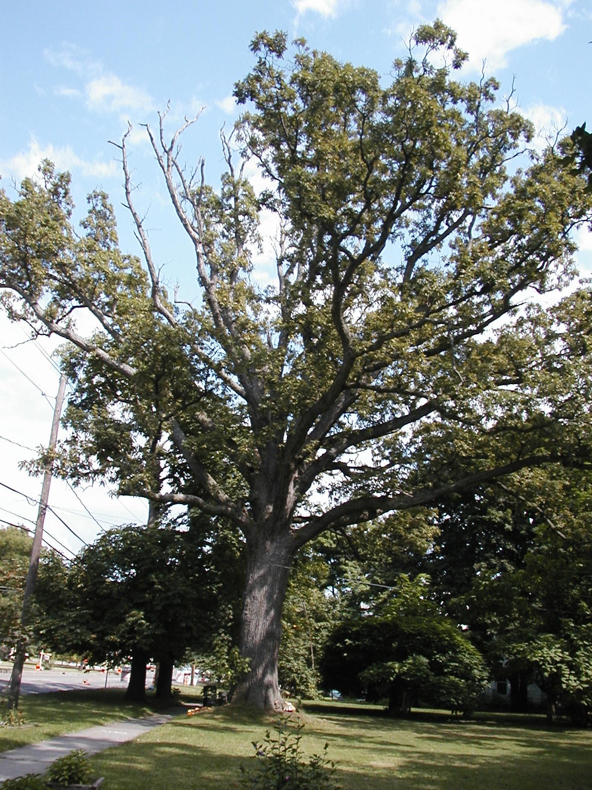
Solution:
<path fill-rule="evenodd" d="M 249 672 L 232 694 L 234 704 L 260 710 L 286 707 L 278 683 L 279 639 L 293 553 L 287 536 L 262 537 L 248 547 L 239 650 Z"/>

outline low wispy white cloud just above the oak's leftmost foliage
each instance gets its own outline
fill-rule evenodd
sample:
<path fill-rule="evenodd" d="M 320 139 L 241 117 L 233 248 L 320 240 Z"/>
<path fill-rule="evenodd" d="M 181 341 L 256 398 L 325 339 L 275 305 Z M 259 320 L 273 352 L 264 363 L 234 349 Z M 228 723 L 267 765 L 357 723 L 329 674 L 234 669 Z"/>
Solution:
<path fill-rule="evenodd" d="M 111 178 L 118 175 L 118 167 L 115 161 L 104 162 L 101 160 L 88 161 L 81 159 L 69 145 L 56 148 L 54 145 L 39 145 L 35 137 L 31 138 L 28 149 L 21 151 L 9 160 L 0 161 L 0 173 L 11 175 L 20 181 L 26 176 L 34 176 L 37 167 L 42 159 L 51 160 L 55 167 L 60 170 L 79 171 L 82 175 L 92 178 Z"/>

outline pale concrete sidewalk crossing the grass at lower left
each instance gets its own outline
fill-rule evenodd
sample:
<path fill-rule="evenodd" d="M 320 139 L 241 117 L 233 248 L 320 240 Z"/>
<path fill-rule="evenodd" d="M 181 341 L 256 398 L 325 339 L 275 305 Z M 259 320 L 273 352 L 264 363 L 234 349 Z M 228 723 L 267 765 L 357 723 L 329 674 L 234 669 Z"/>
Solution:
<path fill-rule="evenodd" d="M 148 732 L 153 727 L 159 727 L 172 718 L 170 714 L 152 713 L 140 719 L 115 721 L 98 727 L 89 727 L 71 735 L 60 735 L 39 743 L 11 751 L 0 752 L 0 782 L 5 779 L 24 777 L 27 773 L 45 773 L 51 763 L 68 754 L 73 749 L 84 749 L 87 754 L 96 754 L 98 751 L 126 743 Z"/>

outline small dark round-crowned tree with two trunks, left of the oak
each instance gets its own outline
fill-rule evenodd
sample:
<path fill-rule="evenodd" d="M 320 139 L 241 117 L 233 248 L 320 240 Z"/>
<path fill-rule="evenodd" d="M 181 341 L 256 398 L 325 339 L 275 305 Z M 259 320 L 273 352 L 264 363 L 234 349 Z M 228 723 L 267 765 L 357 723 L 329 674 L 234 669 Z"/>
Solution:
<path fill-rule="evenodd" d="M 131 656 L 130 699 L 144 698 L 146 664 L 159 660 L 157 694 L 170 694 L 174 661 L 189 647 L 208 645 L 240 573 L 236 564 L 212 564 L 212 525 L 204 529 L 204 521 L 195 519 L 185 531 L 171 525 L 111 529 L 69 570 L 45 568 L 39 633 L 55 649 L 94 661 L 114 664 Z"/>

